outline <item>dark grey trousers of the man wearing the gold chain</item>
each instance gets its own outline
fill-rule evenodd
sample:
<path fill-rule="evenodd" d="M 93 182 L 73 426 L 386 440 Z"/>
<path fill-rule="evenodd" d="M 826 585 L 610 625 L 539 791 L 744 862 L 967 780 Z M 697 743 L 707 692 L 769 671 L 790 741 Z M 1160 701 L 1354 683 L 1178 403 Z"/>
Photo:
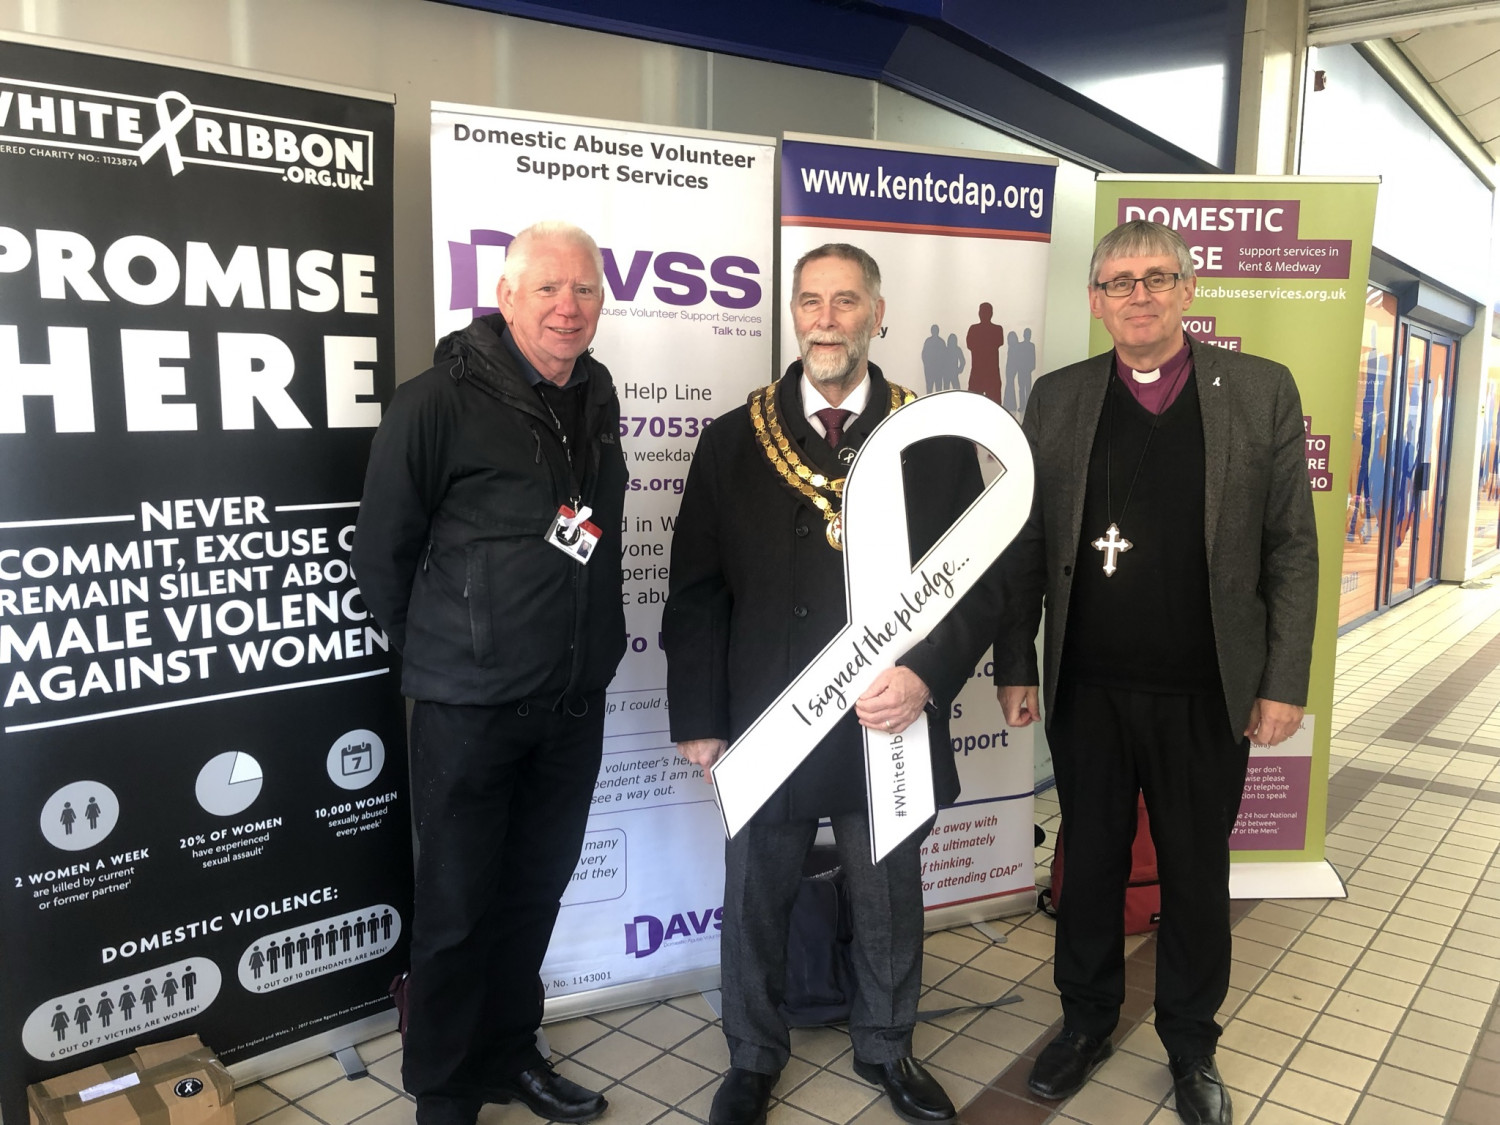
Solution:
<path fill-rule="evenodd" d="M 921 844 L 932 824 L 879 866 L 870 862 L 864 813 L 836 816 L 832 825 L 854 906 L 858 992 L 849 1038 L 861 1062 L 894 1062 L 912 1053 L 922 988 Z M 792 903 L 816 834 L 814 820 L 748 824 L 724 844 L 720 968 L 732 1066 L 778 1074 L 790 1058 L 790 1036 L 777 1008 L 786 984 Z"/>

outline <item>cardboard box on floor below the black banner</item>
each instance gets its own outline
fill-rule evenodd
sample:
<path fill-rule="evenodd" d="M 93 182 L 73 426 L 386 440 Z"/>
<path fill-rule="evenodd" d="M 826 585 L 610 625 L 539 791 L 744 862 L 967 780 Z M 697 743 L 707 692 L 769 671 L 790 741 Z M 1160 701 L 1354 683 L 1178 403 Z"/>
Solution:
<path fill-rule="evenodd" d="M 196 1035 L 26 1090 L 32 1125 L 234 1125 L 234 1082 Z"/>

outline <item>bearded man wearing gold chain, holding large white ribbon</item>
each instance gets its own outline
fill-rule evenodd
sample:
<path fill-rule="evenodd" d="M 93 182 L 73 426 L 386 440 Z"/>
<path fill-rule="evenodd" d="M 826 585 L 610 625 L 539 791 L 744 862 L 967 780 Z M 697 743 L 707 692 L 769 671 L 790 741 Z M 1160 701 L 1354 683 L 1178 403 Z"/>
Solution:
<path fill-rule="evenodd" d="M 705 770 L 846 624 L 840 508 L 848 464 L 874 426 L 914 398 L 868 362 L 884 312 L 880 272 L 868 254 L 828 244 L 804 255 L 792 274 L 801 358 L 699 441 L 672 540 L 663 644 L 672 738 Z M 914 561 L 980 489 L 970 442 L 936 438 L 908 450 Z M 951 804 L 958 774 L 948 714 L 992 630 L 993 616 L 954 608 L 939 632 L 849 700 L 848 714 L 726 843 L 722 990 L 730 1070 L 711 1125 L 764 1122 L 790 1058 L 778 1012 L 788 926 L 820 818 L 832 820 L 852 900 L 854 1070 L 882 1086 L 906 1120 L 952 1119 L 948 1095 L 912 1058 L 920 849 L 932 824 L 870 862 L 860 723 L 900 732 L 930 708 L 934 796 Z"/>

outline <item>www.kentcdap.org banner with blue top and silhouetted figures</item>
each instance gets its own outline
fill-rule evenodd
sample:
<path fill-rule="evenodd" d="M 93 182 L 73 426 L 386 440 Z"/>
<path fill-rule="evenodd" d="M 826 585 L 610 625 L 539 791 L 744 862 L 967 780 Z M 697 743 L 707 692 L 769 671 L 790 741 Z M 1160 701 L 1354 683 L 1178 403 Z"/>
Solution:
<path fill-rule="evenodd" d="M 918 394 L 966 390 L 1017 418 L 1046 324 L 1058 162 L 789 134 L 782 144 L 782 292 L 807 250 L 848 242 L 880 266 L 870 358 Z M 782 310 L 782 366 L 796 333 Z M 987 478 L 998 462 L 980 453 Z M 922 846 L 928 922 L 1029 909 L 1032 732 L 1011 730 L 981 662 L 952 705 L 963 792 Z M 940 909 L 952 908 L 952 909 Z"/>

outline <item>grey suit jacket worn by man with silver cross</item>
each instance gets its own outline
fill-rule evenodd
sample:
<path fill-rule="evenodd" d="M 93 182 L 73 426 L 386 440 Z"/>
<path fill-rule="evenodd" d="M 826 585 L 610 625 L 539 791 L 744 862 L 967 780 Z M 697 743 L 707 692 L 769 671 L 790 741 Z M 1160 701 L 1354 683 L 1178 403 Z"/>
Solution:
<path fill-rule="evenodd" d="M 1317 528 L 1302 399 L 1292 372 L 1257 356 L 1191 342 L 1203 411 L 1204 548 L 1224 704 L 1238 735 L 1257 698 L 1306 704 L 1317 616 Z M 996 684 L 1036 684 L 1047 608 L 1050 723 L 1078 556 L 1083 486 L 1113 372 L 1113 351 L 1041 378 L 1022 429 L 1036 459 L 1030 518 L 1000 561 L 1005 609 Z"/>

